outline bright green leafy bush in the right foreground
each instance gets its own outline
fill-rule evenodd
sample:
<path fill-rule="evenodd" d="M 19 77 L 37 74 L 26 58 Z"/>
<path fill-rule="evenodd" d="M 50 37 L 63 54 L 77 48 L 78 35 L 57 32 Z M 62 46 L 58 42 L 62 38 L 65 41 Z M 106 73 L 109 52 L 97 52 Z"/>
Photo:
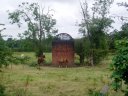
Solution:
<path fill-rule="evenodd" d="M 121 88 L 122 81 L 127 86 L 125 96 L 128 95 L 128 39 L 122 39 L 116 42 L 117 53 L 113 58 L 111 69 L 113 71 L 111 77 L 113 79 L 113 87 L 117 91 Z"/>

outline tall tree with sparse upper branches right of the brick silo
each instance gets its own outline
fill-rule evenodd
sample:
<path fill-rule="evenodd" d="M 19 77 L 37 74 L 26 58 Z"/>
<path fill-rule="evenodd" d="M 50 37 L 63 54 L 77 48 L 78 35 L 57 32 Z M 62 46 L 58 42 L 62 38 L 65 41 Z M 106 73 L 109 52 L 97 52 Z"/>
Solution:
<path fill-rule="evenodd" d="M 107 29 L 111 27 L 112 20 L 108 17 L 109 8 L 112 0 L 95 0 L 92 15 L 89 13 L 88 3 L 81 4 L 82 22 L 79 31 L 88 39 L 88 62 L 93 66 L 105 56 L 107 50 Z M 102 54 L 102 55 L 99 55 Z"/>

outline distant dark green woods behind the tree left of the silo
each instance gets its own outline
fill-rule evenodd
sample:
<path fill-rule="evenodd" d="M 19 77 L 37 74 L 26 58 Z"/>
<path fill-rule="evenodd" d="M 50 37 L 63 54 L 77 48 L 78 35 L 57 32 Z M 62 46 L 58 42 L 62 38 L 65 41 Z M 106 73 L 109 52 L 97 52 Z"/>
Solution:
<path fill-rule="evenodd" d="M 43 47 L 44 52 L 51 52 L 52 50 L 52 39 L 53 37 L 46 38 L 45 41 L 43 41 L 43 44 L 45 45 Z M 12 49 L 14 52 L 33 52 L 35 51 L 35 48 L 33 47 L 35 44 L 33 43 L 33 40 L 30 38 L 25 39 L 13 39 L 8 38 L 6 41 L 6 45 Z"/>

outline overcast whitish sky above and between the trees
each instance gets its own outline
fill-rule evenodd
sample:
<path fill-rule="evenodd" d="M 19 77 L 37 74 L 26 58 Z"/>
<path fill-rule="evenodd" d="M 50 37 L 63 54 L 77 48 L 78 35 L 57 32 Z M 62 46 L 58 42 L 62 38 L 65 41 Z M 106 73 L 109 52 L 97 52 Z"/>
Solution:
<path fill-rule="evenodd" d="M 18 5 L 22 2 L 38 2 L 42 7 L 47 9 L 50 7 L 54 9 L 54 19 L 57 20 L 56 28 L 59 33 L 68 33 L 73 38 L 79 38 L 82 35 L 78 32 L 78 23 L 80 23 L 81 9 L 80 9 L 80 1 L 82 0 L 1 0 L 0 2 L 0 23 L 5 24 L 5 26 L 0 26 L 0 29 L 6 28 L 6 30 L 2 31 L 2 35 L 7 35 L 8 37 L 11 35 L 13 38 L 17 38 L 18 33 L 22 33 L 27 29 L 27 26 L 24 24 L 21 28 L 18 28 L 16 24 L 10 24 L 8 20 L 7 10 L 13 12 L 18 8 Z M 94 0 L 87 0 L 91 5 Z M 111 16 L 125 16 L 128 17 L 128 11 L 126 8 L 117 6 L 118 2 L 125 2 L 127 0 L 115 0 L 110 9 Z M 113 18 L 114 19 L 114 18 Z M 121 24 L 123 22 L 118 18 L 115 18 L 115 23 L 113 23 L 114 29 L 120 29 Z M 111 29 L 111 30 L 114 30 Z"/>

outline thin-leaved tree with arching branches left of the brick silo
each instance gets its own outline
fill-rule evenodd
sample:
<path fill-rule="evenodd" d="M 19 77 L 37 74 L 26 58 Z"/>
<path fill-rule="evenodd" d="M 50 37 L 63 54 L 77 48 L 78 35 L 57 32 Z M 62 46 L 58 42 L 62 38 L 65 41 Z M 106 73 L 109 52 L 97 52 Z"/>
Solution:
<path fill-rule="evenodd" d="M 57 29 L 54 28 L 56 20 L 52 18 L 50 11 L 52 10 L 48 9 L 45 14 L 44 8 L 42 9 L 38 3 L 23 2 L 17 10 L 9 12 L 12 24 L 17 23 L 19 27 L 24 23 L 27 24 L 28 29 L 24 32 L 24 36 L 33 40 L 37 56 L 43 55 L 45 45 L 43 41 L 46 37 L 57 33 Z"/>

